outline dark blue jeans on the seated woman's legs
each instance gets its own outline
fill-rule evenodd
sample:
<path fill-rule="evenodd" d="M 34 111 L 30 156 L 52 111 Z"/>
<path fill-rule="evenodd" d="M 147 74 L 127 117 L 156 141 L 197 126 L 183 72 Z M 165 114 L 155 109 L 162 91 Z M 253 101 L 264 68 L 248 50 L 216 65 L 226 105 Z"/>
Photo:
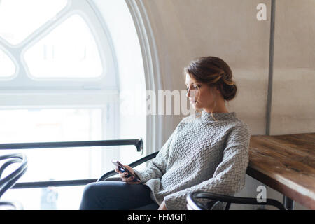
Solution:
<path fill-rule="evenodd" d="M 85 186 L 81 210 L 156 210 L 159 205 L 150 197 L 151 190 L 144 184 L 123 181 L 100 181 Z"/>

